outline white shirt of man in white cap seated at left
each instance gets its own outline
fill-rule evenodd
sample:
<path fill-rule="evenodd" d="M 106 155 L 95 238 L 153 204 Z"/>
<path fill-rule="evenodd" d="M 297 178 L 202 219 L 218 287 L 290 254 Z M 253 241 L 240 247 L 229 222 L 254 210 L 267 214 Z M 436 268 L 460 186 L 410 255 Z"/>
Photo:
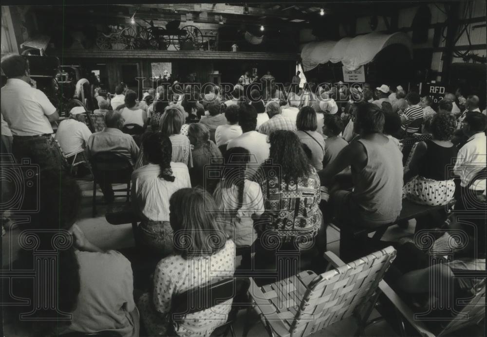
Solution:
<path fill-rule="evenodd" d="M 69 155 L 85 148 L 91 134 L 86 124 L 70 118 L 59 123 L 55 137 L 64 154 Z"/>

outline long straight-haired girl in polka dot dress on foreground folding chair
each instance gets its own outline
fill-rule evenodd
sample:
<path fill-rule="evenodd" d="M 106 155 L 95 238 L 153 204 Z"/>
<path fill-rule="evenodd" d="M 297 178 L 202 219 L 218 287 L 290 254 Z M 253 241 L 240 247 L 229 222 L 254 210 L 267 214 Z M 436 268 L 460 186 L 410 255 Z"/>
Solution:
<path fill-rule="evenodd" d="M 205 191 L 183 188 L 169 200 L 174 254 L 156 266 L 150 293 L 138 302 L 148 336 L 210 336 L 226 322 L 232 300 L 171 317 L 173 296 L 233 277 L 235 245 L 215 219 L 215 201 Z"/>

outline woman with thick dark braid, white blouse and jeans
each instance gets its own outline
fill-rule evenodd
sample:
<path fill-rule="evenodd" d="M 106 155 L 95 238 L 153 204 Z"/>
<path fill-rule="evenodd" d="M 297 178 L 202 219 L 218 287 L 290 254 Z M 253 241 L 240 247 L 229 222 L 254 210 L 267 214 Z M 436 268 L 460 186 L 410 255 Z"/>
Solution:
<path fill-rule="evenodd" d="M 191 187 L 186 164 L 171 161 L 172 144 L 161 132 L 145 135 L 144 157 L 149 164 L 132 173 L 131 199 L 142 217 L 139 226 L 142 247 L 159 256 L 172 252 L 169 198 L 181 188 Z"/>

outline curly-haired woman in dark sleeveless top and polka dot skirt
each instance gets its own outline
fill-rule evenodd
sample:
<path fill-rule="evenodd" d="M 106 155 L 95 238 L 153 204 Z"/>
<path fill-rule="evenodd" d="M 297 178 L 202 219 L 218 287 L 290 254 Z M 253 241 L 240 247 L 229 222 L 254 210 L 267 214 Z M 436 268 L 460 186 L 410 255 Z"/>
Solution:
<path fill-rule="evenodd" d="M 447 168 L 457 157 L 451 142 L 456 129 L 451 113 L 437 113 L 430 126 L 431 141 L 419 142 L 404 175 L 403 192 L 408 200 L 429 206 L 446 205 L 455 192 L 455 183 Z"/>

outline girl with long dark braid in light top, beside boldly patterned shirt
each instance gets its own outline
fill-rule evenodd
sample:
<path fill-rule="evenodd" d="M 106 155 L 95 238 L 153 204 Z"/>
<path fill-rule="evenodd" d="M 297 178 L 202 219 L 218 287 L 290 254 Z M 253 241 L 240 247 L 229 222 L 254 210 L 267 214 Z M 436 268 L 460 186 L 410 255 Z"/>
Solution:
<path fill-rule="evenodd" d="M 222 179 L 214 197 L 219 210 L 223 210 L 225 230 L 233 237 L 237 247 L 251 246 L 257 238 L 252 216 L 264 212 L 261 187 L 245 179 L 250 152 L 243 147 L 232 147 L 224 156 Z"/>

